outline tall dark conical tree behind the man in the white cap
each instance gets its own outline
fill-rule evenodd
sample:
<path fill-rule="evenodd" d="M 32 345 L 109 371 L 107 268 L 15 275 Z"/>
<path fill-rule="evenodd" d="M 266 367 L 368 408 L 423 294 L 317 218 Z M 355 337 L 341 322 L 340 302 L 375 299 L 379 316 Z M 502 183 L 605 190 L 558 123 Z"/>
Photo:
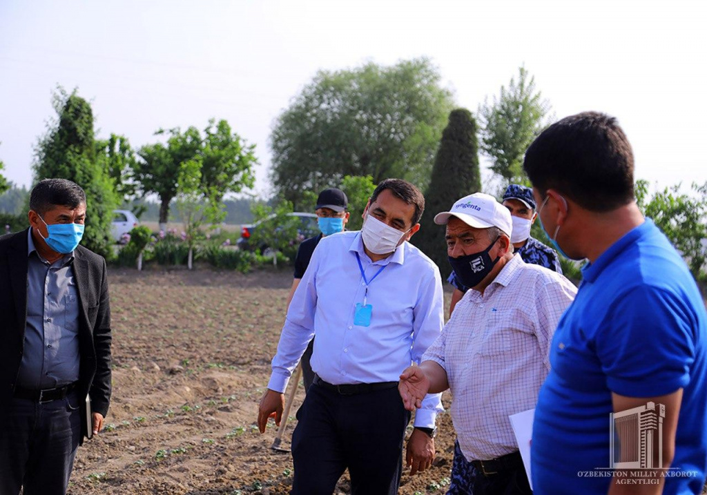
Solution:
<path fill-rule="evenodd" d="M 413 241 L 433 260 L 442 274 L 449 274 L 445 229 L 434 223 L 440 211 L 449 211 L 457 199 L 481 190 L 477 123 L 465 108 L 452 110 L 440 141 L 420 231 Z"/>

